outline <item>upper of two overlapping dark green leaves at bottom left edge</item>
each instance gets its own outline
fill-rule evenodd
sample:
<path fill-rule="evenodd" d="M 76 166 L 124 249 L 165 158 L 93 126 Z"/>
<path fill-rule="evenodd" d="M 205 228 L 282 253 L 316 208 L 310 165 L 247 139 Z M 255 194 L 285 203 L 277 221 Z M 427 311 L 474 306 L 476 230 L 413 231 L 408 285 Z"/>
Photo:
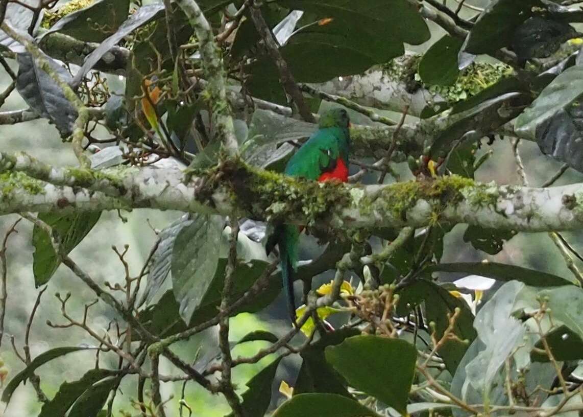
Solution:
<path fill-rule="evenodd" d="M 97 381 L 117 374 L 109 369 L 91 369 L 77 381 L 64 382 L 51 401 L 45 402 L 38 417 L 65 417 L 73 402 Z"/>

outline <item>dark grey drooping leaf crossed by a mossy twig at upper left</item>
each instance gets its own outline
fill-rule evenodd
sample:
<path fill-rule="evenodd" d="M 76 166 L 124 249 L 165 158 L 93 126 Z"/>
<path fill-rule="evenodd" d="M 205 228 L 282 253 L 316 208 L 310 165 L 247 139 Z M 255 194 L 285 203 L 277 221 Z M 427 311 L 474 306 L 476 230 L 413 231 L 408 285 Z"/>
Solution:
<path fill-rule="evenodd" d="M 71 82 L 71 75 L 54 59 L 44 56 L 52 71 L 65 83 Z M 77 110 L 66 99 L 61 87 L 46 72 L 41 69 L 34 58 L 28 54 L 19 54 L 16 89 L 20 96 L 41 117 L 55 124 L 62 136 L 71 134 L 73 122 L 77 118 Z"/>

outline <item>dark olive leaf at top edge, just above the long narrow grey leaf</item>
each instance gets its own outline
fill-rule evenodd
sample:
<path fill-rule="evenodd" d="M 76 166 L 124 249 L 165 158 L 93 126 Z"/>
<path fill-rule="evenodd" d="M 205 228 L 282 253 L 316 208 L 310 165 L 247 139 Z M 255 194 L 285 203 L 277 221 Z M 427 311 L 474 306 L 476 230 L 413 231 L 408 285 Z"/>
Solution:
<path fill-rule="evenodd" d="M 60 32 L 85 42 L 101 42 L 128 17 L 129 0 L 97 0 L 59 19 L 43 33 Z"/>

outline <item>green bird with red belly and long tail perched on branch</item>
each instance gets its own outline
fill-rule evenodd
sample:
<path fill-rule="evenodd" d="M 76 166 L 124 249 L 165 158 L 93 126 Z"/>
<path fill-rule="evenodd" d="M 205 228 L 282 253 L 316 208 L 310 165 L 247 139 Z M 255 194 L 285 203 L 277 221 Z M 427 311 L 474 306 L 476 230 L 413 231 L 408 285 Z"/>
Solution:
<path fill-rule="evenodd" d="M 350 153 L 350 120 L 343 108 L 335 108 L 322 114 L 318 130 L 291 157 L 284 173 L 291 177 L 314 181 L 348 181 L 348 157 Z M 287 299 L 287 309 L 291 322 L 296 324 L 296 303 L 294 300 L 294 272 L 297 271 L 298 243 L 300 227 L 296 225 L 276 225 L 269 237 L 266 251 L 271 253 L 277 244 L 282 269 L 283 291 Z"/>

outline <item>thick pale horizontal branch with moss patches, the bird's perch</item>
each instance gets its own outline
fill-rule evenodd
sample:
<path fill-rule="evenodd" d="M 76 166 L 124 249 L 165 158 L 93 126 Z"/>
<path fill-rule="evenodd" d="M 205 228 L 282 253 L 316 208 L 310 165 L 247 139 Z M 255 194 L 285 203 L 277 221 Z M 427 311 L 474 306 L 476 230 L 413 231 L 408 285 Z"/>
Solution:
<path fill-rule="evenodd" d="M 583 229 L 583 184 L 529 188 L 452 176 L 356 187 L 297 181 L 229 161 L 185 184 L 179 170 L 48 170 L 30 157 L 0 155 L 0 215 L 155 208 L 237 212 L 329 232 L 445 223 L 525 232 Z"/>

